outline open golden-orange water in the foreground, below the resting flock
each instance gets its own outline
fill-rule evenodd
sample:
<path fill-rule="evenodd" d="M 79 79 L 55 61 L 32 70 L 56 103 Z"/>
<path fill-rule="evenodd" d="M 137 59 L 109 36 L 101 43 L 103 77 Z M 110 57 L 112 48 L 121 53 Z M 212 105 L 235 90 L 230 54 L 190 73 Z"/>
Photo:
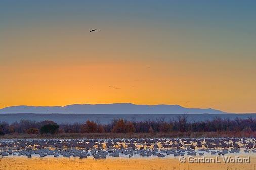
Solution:
<path fill-rule="evenodd" d="M 180 163 L 176 158 L 25 158 L 25 157 L 2 157 L 0 158 L 0 170 L 255 170 L 256 157 L 250 158 L 250 163 L 231 164 L 231 163 Z"/>

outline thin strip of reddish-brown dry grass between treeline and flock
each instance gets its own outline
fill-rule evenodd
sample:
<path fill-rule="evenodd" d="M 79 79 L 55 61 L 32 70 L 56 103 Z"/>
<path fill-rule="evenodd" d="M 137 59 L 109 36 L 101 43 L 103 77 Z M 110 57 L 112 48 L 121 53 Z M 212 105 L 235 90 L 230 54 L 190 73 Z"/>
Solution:
<path fill-rule="evenodd" d="M 0 139 L 24 139 L 24 138 L 174 138 L 174 137 L 256 137 L 256 132 L 170 132 L 170 133 L 59 133 L 50 134 L 6 134 Z"/>

